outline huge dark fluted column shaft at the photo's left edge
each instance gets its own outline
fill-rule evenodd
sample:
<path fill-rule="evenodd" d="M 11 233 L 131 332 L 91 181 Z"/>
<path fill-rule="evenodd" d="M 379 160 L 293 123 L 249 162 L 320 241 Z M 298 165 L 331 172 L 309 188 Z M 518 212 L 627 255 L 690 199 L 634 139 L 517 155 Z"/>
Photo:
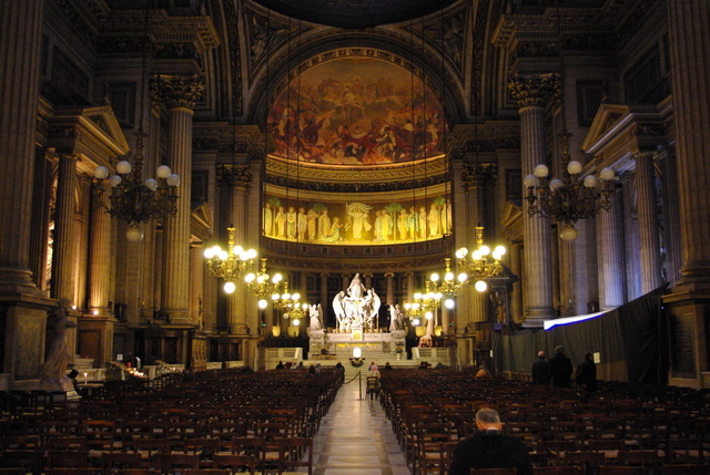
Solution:
<path fill-rule="evenodd" d="M 0 2 L 0 291 L 37 287 L 29 270 L 43 0 Z M 10 206 L 11 205 L 11 206 Z"/>

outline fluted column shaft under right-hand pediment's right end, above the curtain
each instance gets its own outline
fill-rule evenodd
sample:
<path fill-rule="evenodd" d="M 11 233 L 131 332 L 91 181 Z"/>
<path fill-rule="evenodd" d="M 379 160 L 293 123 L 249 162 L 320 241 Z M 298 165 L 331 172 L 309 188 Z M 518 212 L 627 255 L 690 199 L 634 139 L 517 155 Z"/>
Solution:
<path fill-rule="evenodd" d="M 661 285 L 658 213 L 656 210 L 656 179 L 653 154 L 636 156 L 636 192 L 639 214 L 639 248 L 641 256 L 641 292 L 648 293 Z"/>

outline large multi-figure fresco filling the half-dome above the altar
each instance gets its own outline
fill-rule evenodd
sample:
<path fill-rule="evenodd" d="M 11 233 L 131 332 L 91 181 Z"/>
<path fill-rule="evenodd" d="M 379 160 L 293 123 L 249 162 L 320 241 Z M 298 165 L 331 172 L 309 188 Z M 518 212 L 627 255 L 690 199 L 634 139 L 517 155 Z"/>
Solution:
<path fill-rule="evenodd" d="M 327 165 L 384 165 L 440 155 L 440 104 L 404 68 L 341 59 L 305 71 L 268 115 L 275 154 Z"/>

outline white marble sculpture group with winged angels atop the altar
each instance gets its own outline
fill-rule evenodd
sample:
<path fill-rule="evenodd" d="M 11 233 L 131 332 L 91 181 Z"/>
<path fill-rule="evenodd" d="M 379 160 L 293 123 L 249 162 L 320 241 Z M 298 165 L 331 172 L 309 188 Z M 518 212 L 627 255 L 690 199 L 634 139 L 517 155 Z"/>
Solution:
<path fill-rule="evenodd" d="M 382 301 L 375 290 L 365 289 L 356 273 L 347 290 L 338 292 L 333 299 L 333 310 L 339 332 L 351 332 L 356 329 L 374 330 Z"/>

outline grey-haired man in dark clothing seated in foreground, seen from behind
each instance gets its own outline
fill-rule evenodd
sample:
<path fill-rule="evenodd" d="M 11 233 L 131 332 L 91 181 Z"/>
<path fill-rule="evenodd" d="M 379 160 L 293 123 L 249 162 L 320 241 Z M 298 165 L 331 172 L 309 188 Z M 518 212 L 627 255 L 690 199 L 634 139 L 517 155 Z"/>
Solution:
<path fill-rule="evenodd" d="M 528 447 L 517 437 L 503 433 L 500 416 L 490 407 L 476 413 L 476 433 L 459 442 L 448 475 L 469 475 L 471 468 L 517 468 L 518 475 L 532 475 Z"/>

